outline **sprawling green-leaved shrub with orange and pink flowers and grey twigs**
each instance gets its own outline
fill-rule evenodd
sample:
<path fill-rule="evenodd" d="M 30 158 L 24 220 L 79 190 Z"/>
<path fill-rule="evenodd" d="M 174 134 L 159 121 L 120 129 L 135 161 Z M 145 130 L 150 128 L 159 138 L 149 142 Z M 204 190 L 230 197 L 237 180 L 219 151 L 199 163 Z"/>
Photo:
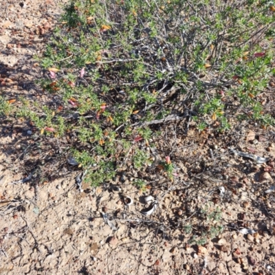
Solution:
<path fill-rule="evenodd" d="M 138 124 L 166 118 L 175 105 L 197 114 L 199 130 L 215 122 L 228 131 L 233 98 L 243 118 L 274 124 L 258 98 L 275 74 L 271 7 L 258 0 L 71 1 L 41 61 L 52 105 L 25 104 L 17 115 L 41 135 L 75 140 L 77 161 L 97 164 L 87 176 L 94 185 L 112 177 L 124 156 L 144 167 L 149 156 L 139 144 L 148 146 L 152 131 Z M 164 167 L 171 177 L 172 164 Z"/>

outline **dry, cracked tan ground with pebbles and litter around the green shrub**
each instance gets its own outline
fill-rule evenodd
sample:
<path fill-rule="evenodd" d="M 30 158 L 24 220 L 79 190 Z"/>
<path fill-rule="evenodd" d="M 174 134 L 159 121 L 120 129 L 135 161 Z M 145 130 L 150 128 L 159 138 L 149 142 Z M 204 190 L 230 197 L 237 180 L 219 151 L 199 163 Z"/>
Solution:
<path fill-rule="evenodd" d="M 9 98 L 46 100 L 34 83 L 41 71 L 33 56 L 43 51 L 62 1 L 0 2 L 0 89 Z M 176 159 L 174 181 L 147 167 L 146 188 L 138 190 L 140 175 L 125 164 L 123 176 L 80 192 L 79 170 L 62 158 L 58 167 L 48 164 L 63 144 L 39 147 L 27 122 L 3 121 L 0 274 L 274 274 L 272 127 L 240 124 L 224 136 L 198 133 L 191 123 L 185 136 L 184 123 L 159 126 L 155 140 L 161 159 Z M 256 164 L 230 146 L 270 160 Z M 36 170 L 22 182 L 34 151 L 47 151 L 46 164 L 60 177 L 37 182 Z M 146 203 L 148 195 L 155 205 Z M 152 207 L 153 214 L 141 213 Z"/>

